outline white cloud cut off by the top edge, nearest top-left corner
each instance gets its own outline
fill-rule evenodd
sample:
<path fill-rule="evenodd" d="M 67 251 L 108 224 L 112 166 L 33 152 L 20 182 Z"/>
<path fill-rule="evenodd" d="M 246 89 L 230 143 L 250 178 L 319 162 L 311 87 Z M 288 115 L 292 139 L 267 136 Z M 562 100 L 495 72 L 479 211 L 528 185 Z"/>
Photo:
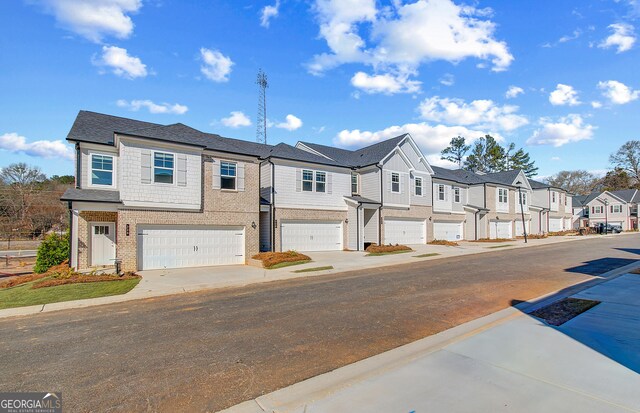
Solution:
<path fill-rule="evenodd" d="M 141 0 L 41 0 L 58 24 L 88 40 L 100 43 L 105 36 L 126 39 L 133 33 L 130 14 L 142 7 Z"/>

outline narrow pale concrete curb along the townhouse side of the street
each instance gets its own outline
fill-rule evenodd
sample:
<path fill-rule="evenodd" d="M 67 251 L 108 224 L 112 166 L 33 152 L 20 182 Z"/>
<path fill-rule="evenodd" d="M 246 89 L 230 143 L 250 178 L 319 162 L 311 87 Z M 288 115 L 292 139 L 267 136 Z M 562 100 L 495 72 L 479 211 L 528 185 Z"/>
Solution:
<path fill-rule="evenodd" d="M 575 236 L 575 237 L 571 237 L 571 238 L 558 237 L 558 238 L 560 238 L 558 241 L 550 242 L 548 244 L 527 245 L 527 244 L 522 243 L 522 244 L 518 244 L 518 245 L 514 245 L 514 246 L 509 246 L 509 247 L 506 247 L 504 249 L 500 249 L 499 251 L 487 249 L 487 250 L 478 250 L 478 251 L 472 251 L 472 252 L 465 252 L 465 253 L 461 253 L 461 254 L 457 254 L 457 255 L 438 255 L 438 256 L 433 256 L 433 257 L 421 259 L 420 261 L 432 261 L 432 260 L 445 259 L 445 258 L 458 258 L 458 257 L 466 257 L 466 256 L 488 254 L 488 253 L 500 253 L 500 252 L 504 252 L 504 251 L 508 251 L 508 250 L 521 249 L 521 248 L 538 248 L 538 247 L 545 247 L 545 246 L 548 246 L 548 245 L 561 244 L 561 243 L 564 243 L 564 242 L 596 240 L 596 239 L 601 239 L 603 237 L 609 237 L 610 238 L 610 237 L 618 237 L 618 236 L 621 236 L 621 235 L 634 235 L 634 234 L 637 235 L 638 233 L 637 232 L 627 232 L 627 233 L 623 232 L 623 233 L 620 233 L 620 234 L 601 235 L 601 236 L 598 236 L 598 237 L 595 237 L 595 236 L 594 237 L 591 237 L 591 236 L 587 236 L 587 237 Z M 518 240 L 518 241 L 521 241 L 521 240 Z M 459 247 L 451 247 L 451 248 L 459 248 Z M 412 258 L 412 257 L 407 257 L 407 258 Z M 322 272 L 322 273 L 318 273 L 318 274 L 299 273 L 298 275 L 291 275 L 290 271 L 287 270 L 286 272 L 282 272 L 281 276 L 274 277 L 274 278 L 269 278 L 269 279 L 264 279 L 263 278 L 263 279 L 255 279 L 255 280 L 245 281 L 245 282 L 238 282 L 238 283 L 234 283 L 234 284 L 230 283 L 230 284 L 203 286 L 203 287 L 192 286 L 192 287 L 187 288 L 187 289 L 185 289 L 185 288 L 173 288 L 171 290 L 162 291 L 162 292 L 156 292 L 156 293 L 152 293 L 152 294 L 148 294 L 148 293 L 145 293 L 144 291 L 136 290 L 136 288 L 137 288 L 137 286 L 136 286 L 130 292 L 128 292 L 126 294 L 121 294 L 121 295 L 114 295 L 114 296 L 108 296 L 108 297 L 99 297 L 99 298 L 89 298 L 89 299 L 85 299 L 85 300 L 62 301 L 62 302 L 50 303 L 50 304 L 38 304 L 38 305 L 33 305 L 33 306 L 28 306 L 28 307 L 8 308 L 8 309 L 0 310 L 0 319 L 10 318 L 10 317 L 29 316 L 29 315 L 42 314 L 42 313 L 50 313 L 50 312 L 61 311 L 61 310 L 71 310 L 71 309 L 77 309 L 77 308 L 87 308 L 87 307 L 94 307 L 94 306 L 100 306 L 100 305 L 117 304 L 117 303 L 123 303 L 123 302 L 127 302 L 127 301 L 145 300 L 145 299 L 150 299 L 150 298 L 161 298 L 161 297 L 167 297 L 167 296 L 171 296 L 171 295 L 179 295 L 179 294 L 184 294 L 184 293 L 214 291 L 214 290 L 222 290 L 222 289 L 226 289 L 226 288 L 242 288 L 242 287 L 247 287 L 247 286 L 250 286 L 250 285 L 264 284 L 264 283 L 275 282 L 275 281 L 288 281 L 288 280 L 300 279 L 300 278 L 311 278 L 311 277 L 318 277 L 318 276 L 324 276 L 324 275 L 336 275 L 336 274 L 341 274 L 341 273 L 346 273 L 346 272 L 351 272 L 351 271 L 358 271 L 358 270 L 366 270 L 366 269 L 371 269 L 371 268 L 393 267 L 393 266 L 396 266 L 396 265 L 410 264 L 410 263 L 413 263 L 413 262 L 417 262 L 417 260 L 414 258 L 413 260 L 407 259 L 406 261 L 402 261 L 402 262 L 394 262 L 394 263 L 379 262 L 379 263 L 375 263 L 375 264 L 374 264 L 374 261 L 372 261 L 372 265 L 371 266 L 366 266 L 366 267 L 362 267 L 362 268 L 358 268 L 358 269 L 340 269 L 340 270 L 336 270 L 335 272 L 330 270 L 330 271 Z"/>

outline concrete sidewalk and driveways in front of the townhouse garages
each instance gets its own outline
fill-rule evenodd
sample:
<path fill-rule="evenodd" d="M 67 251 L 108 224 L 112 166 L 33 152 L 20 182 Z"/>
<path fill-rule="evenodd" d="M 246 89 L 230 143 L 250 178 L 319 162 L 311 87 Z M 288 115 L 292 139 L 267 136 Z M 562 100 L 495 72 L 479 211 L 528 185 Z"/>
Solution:
<path fill-rule="evenodd" d="M 379 268 L 418 262 L 421 260 L 434 260 L 440 258 L 458 257 L 464 255 L 482 254 L 489 252 L 505 251 L 518 248 L 529 248 L 540 245 L 550 245 L 563 242 L 587 241 L 601 237 L 620 237 L 637 235 L 637 233 L 622 233 L 616 235 L 601 236 L 557 236 L 545 239 L 532 239 L 528 244 L 524 240 L 517 239 L 508 242 L 469 242 L 461 241 L 457 247 L 442 245 L 411 245 L 413 252 L 367 257 L 365 252 L 329 251 L 308 253 L 312 261 L 307 264 L 284 267 L 275 270 L 248 265 L 230 265 L 219 267 L 196 267 L 167 270 L 140 271 L 142 280 L 127 294 L 110 297 L 92 298 L 86 300 L 65 301 L 29 307 L 18 307 L 0 310 L 0 318 L 30 315 L 42 312 L 58 311 L 71 308 L 85 308 L 96 305 L 119 303 L 124 301 L 139 300 L 145 298 L 162 297 L 166 295 L 181 294 L 212 290 L 218 288 L 242 287 L 263 282 L 288 280 L 293 278 L 322 276 L 341 273 L 350 270 L 363 270 L 367 268 Z M 417 256 L 422 254 L 436 254 L 430 257 Z M 314 267 L 333 266 L 331 270 L 296 273 L 297 270 Z"/>

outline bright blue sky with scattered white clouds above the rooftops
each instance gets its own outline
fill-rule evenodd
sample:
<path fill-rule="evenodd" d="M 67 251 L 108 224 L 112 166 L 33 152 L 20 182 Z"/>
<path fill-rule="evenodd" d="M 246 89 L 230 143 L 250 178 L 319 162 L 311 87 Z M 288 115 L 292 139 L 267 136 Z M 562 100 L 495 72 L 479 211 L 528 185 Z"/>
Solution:
<path fill-rule="evenodd" d="M 0 3 L 0 167 L 73 173 L 78 110 L 356 148 L 410 132 L 602 171 L 640 126 L 638 0 L 29 0 Z"/>

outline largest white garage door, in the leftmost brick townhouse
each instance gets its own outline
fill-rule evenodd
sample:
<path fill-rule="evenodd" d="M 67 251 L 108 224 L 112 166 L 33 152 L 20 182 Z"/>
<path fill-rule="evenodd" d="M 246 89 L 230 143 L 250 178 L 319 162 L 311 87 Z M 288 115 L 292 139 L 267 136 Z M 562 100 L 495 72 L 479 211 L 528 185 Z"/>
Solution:
<path fill-rule="evenodd" d="M 138 268 L 244 264 L 243 227 L 144 226 L 138 229 Z"/>

